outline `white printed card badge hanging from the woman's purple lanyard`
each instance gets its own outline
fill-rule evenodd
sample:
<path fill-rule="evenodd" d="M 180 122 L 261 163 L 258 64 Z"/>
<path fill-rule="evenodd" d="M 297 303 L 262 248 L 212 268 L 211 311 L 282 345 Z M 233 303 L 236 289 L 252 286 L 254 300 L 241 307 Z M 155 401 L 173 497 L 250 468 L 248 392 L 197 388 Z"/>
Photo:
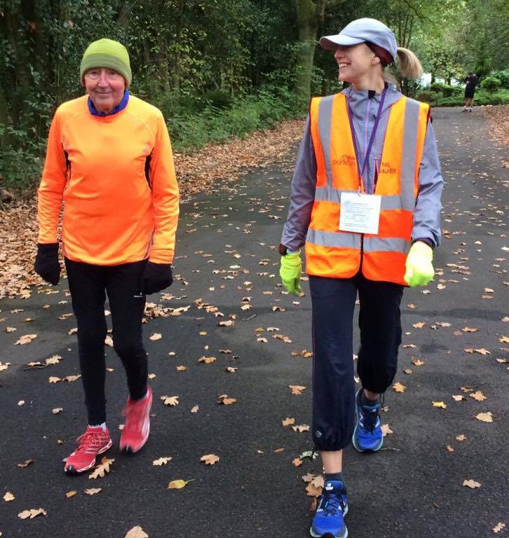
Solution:
<path fill-rule="evenodd" d="M 377 234 L 380 222 L 381 196 L 341 193 L 339 230 Z"/>

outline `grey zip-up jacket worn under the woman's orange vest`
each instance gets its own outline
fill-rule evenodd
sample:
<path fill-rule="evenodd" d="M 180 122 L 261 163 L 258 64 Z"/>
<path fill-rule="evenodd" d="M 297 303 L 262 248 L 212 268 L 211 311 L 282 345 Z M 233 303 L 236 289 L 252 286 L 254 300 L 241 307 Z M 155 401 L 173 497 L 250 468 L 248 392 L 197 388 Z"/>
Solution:
<path fill-rule="evenodd" d="M 379 109 L 381 94 L 375 94 L 374 97 L 369 99 L 367 90 L 355 91 L 353 86 L 343 90 L 342 93 L 346 95 L 351 106 L 358 151 L 363 161 L 376 113 Z M 369 162 L 362 177 L 366 193 L 372 194 L 374 192 L 375 171 L 378 170 L 381 160 L 389 109 L 401 97 L 403 95 L 396 90 L 395 85 L 389 84 L 384 109 L 381 113 L 379 126 L 369 155 Z M 362 167 L 362 163 L 360 163 L 360 166 Z M 297 153 L 297 163 L 295 164 L 292 179 L 290 209 L 288 210 L 287 221 L 281 237 L 281 243 L 289 251 L 299 250 L 306 242 L 306 233 L 311 222 L 311 210 L 315 200 L 316 170 L 315 150 L 308 118 L 299 152 Z M 432 247 L 440 244 L 440 209 L 442 209 L 440 198 L 443 184 L 435 134 L 431 122 L 428 121 L 419 172 L 419 192 L 414 209 L 412 240 L 426 240 Z"/>

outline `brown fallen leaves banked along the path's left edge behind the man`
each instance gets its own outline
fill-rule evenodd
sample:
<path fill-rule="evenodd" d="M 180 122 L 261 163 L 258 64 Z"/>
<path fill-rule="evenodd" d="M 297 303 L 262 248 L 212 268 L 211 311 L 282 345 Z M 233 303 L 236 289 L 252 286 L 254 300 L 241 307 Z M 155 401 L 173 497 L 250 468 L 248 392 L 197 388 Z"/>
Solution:
<path fill-rule="evenodd" d="M 209 144 L 195 153 L 175 153 L 175 169 L 183 201 L 200 192 L 231 189 L 240 174 L 269 163 L 292 160 L 302 135 L 300 120 L 283 121 L 271 130 L 252 132 L 245 139 Z M 34 273 L 38 225 L 36 200 L 18 200 L 0 206 L 0 298 L 29 297 Z"/>

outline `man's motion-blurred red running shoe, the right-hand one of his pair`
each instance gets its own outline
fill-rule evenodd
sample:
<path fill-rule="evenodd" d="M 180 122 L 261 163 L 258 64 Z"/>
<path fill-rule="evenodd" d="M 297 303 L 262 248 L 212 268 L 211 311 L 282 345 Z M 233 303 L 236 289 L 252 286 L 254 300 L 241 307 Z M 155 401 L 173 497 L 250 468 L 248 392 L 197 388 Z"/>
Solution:
<path fill-rule="evenodd" d="M 147 396 L 142 400 L 133 401 L 128 398 L 122 415 L 125 417 L 120 450 L 124 453 L 134 454 L 141 450 L 150 433 L 150 408 L 152 406 L 152 389 L 147 387 Z"/>

